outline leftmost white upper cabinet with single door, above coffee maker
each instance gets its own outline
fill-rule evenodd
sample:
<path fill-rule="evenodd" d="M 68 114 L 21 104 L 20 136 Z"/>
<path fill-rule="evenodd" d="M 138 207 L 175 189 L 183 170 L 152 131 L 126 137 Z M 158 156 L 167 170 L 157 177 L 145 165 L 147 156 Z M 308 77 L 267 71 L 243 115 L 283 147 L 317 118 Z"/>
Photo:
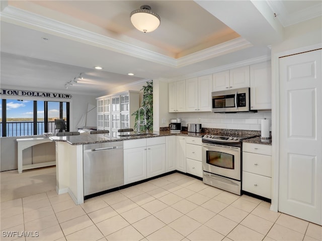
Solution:
<path fill-rule="evenodd" d="M 186 110 L 186 81 L 171 82 L 169 88 L 169 112 L 184 112 Z"/>

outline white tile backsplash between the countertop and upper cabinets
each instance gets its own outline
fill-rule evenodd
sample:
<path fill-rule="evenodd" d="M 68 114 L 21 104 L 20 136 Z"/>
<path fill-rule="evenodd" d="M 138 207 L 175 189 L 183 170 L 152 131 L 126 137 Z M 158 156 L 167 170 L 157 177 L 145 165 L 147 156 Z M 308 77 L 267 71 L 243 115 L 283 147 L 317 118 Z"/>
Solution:
<path fill-rule="evenodd" d="M 261 131 L 261 120 L 270 120 L 272 127 L 272 111 L 259 111 L 257 113 L 212 113 L 212 112 L 185 112 L 178 113 L 182 118 L 182 126 L 187 123 L 201 123 L 202 128 L 234 129 Z"/>

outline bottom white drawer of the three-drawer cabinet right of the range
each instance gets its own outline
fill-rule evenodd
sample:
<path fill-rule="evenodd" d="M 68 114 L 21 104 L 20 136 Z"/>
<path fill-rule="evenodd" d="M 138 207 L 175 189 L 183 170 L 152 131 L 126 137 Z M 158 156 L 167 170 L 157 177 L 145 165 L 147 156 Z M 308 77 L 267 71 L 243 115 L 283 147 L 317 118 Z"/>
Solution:
<path fill-rule="evenodd" d="M 244 191 L 271 199 L 272 179 L 270 177 L 243 171 L 241 187 Z"/>

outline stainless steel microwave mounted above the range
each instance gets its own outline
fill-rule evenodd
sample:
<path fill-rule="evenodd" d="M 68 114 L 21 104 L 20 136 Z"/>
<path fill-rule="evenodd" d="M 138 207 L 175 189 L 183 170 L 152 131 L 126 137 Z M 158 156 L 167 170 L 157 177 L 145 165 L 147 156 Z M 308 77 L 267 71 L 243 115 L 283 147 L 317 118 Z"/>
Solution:
<path fill-rule="evenodd" d="M 250 106 L 249 87 L 212 92 L 212 112 L 250 112 Z"/>

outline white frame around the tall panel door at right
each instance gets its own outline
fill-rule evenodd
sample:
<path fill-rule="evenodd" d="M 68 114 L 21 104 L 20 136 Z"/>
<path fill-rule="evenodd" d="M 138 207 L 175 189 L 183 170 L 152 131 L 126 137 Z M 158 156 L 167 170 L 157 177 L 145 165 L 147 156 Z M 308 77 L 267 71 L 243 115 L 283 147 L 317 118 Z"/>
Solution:
<path fill-rule="evenodd" d="M 279 199 L 279 166 L 280 166 L 280 78 L 279 58 L 322 48 L 322 43 L 278 52 L 272 56 L 272 203 L 270 209 L 278 211 Z"/>

